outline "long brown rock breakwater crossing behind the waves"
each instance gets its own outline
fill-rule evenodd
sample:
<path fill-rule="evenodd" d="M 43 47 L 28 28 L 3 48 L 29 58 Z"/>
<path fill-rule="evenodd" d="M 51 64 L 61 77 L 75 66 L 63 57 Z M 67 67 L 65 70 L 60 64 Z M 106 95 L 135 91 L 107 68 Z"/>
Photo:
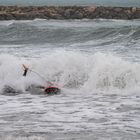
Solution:
<path fill-rule="evenodd" d="M 139 19 L 140 8 L 103 6 L 0 6 L 0 20 Z"/>

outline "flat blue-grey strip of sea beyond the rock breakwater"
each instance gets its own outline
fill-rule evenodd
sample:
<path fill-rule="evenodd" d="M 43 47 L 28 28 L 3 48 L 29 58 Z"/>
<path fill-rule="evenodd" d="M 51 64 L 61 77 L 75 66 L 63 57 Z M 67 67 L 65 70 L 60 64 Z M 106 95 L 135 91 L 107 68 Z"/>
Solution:
<path fill-rule="evenodd" d="M 101 5 L 140 7 L 139 0 L 0 0 L 0 5 Z"/>

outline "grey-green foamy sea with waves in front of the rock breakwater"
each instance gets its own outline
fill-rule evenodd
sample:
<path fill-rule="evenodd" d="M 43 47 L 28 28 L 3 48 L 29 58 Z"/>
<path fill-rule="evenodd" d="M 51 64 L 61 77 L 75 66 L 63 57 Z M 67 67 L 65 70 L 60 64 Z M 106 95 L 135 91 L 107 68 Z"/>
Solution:
<path fill-rule="evenodd" d="M 140 20 L 0 21 L 0 139 L 139 140 Z"/>

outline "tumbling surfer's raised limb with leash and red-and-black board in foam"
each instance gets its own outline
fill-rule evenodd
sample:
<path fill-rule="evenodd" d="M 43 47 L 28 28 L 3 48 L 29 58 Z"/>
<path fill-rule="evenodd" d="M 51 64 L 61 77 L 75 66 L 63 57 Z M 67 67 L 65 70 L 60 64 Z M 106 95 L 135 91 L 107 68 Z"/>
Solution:
<path fill-rule="evenodd" d="M 23 66 L 23 70 L 24 70 L 23 76 L 26 76 L 28 70 L 30 70 L 30 69 L 27 66 L 25 66 L 24 64 L 22 66 Z M 32 70 L 30 70 L 30 71 L 32 71 Z M 38 76 L 40 76 L 42 79 L 44 79 L 44 77 L 42 77 L 39 73 L 37 73 L 35 71 L 32 71 L 32 72 L 36 73 Z M 45 86 L 37 86 L 37 88 L 43 89 L 44 92 L 47 93 L 47 94 L 60 93 L 60 89 L 58 87 L 53 86 L 53 84 L 51 82 L 49 82 L 49 81 L 46 81 L 46 82 L 47 82 L 48 86 L 46 86 L 46 87 Z"/>

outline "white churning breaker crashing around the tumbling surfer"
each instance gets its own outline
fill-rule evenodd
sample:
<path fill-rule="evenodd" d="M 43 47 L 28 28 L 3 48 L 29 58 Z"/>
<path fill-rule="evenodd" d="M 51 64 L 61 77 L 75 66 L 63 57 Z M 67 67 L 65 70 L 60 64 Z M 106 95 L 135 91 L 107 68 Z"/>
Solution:
<path fill-rule="evenodd" d="M 23 77 L 22 64 L 33 71 Z M 0 55 L 0 89 L 5 85 L 25 91 L 30 85 L 45 85 L 45 80 L 63 88 L 86 90 L 127 90 L 140 84 L 140 64 L 104 53 L 83 54 L 56 51 L 43 58 L 18 58 Z M 44 79 L 43 79 L 43 78 Z"/>

